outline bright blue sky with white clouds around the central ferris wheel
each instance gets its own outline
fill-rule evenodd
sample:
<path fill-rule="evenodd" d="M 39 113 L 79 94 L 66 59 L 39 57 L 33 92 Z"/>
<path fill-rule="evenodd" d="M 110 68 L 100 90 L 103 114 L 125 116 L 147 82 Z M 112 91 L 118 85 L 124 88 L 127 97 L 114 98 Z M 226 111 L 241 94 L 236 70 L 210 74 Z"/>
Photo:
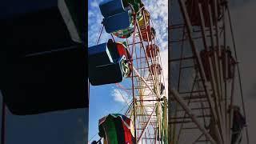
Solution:
<path fill-rule="evenodd" d="M 89 0 L 88 3 L 88 44 L 94 46 L 98 38 L 98 33 L 101 27 L 102 14 L 99 10 L 98 3 L 101 0 Z M 167 21 L 168 10 L 167 0 L 142 0 L 146 9 L 150 11 L 152 21 L 154 23 L 154 29 L 157 32 L 158 45 L 162 50 L 162 66 L 164 71 L 167 72 Z M 110 38 L 110 34 L 107 34 L 105 30 L 102 32 L 102 37 L 99 43 L 106 42 Z M 164 62 L 166 60 L 166 62 Z M 167 79 L 167 73 L 164 73 Z M 129 85 L 129 82 L 122 82 Z M 89 140 L 98 140 L 98 119 L 104 117 L 110 113 L 118 113 L 120 110 L 127 108 L 126 101 L 122 98 L 130 100 L 130 95 L 124 91 L 118 91 L 117 86 L 114 84 L 104 86 L 90 86 L 90 119 L 89 119 Z M 128 100 L 128 101 L 129 101 Z M 121 111 L 121 113 L 123 110 Z"/>

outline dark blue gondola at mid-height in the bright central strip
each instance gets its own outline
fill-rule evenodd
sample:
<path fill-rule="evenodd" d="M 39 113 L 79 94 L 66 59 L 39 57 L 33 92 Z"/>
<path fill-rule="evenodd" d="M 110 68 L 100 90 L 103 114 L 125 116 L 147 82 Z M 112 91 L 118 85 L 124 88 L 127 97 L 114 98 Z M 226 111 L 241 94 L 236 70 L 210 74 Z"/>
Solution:
<path fill-rule="evenodd" d="M 130 54 L 126 46 L 106 42 L 91 46 L 89 52 L 89 80 L 94 86 L 122 82 L 130 73 Z M 128 56 L 129 55 L 129 56 Z"/>

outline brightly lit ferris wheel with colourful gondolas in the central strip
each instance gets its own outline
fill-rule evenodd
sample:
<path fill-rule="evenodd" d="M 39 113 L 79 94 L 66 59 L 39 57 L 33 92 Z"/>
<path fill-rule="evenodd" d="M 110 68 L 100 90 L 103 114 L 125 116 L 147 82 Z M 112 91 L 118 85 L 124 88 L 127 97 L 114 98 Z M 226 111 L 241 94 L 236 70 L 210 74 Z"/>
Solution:
<path fill-rule="evenodd" d="M 114 84 L 130 95 L 124 113 L 99 120 L 99 136 L 111 144 L 168 143 L 162 60 L 150 12 L 141 0 L 103 1 L 99 8 L 104 18 L 88 50 L 90 83 Z M 103 28 L 110 39 L 98 44 Z"/>

